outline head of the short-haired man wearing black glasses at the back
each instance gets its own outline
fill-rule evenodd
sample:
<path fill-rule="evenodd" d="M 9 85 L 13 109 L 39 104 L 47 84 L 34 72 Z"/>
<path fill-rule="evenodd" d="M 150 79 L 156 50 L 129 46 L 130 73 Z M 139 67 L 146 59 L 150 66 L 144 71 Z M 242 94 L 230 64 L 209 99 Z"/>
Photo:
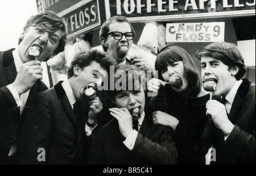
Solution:
<path fill-rule="evenodd" d="M 126 54 L 133 44 L 134 29 L 125 16 L 112 16 L 102 24 L 100 41 L 105 52 L 115 58 L 118 64 L 129 64 Z"/>

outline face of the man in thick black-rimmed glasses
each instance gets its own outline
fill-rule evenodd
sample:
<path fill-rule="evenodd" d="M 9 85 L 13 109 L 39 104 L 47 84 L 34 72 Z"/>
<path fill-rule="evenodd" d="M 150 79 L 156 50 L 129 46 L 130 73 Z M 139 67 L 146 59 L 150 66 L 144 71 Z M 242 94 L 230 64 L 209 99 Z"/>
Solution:
<path fill-rule="evenodd" d="M 109 25 L 109 32 L 131 32 L 130 24 L 127 22 L 114 22 Z M 109 33 L 108 32 L 108 33 Z M 131 48 L 131 45 L 133 44 L 133 40 L 127 40 L 126 37 L 123 35 L 120 40 L 115 40 L 113 35 L 109 35 L 106 38 L 101 39 L 102 45 L 105 45 L 108 48 L 108 53 L 113 56 L 117 62 L 123 62 L 125 61 L 126 57 L 120 57 L 118 56 L 118 48 L 120 46 L 127 47 L 127 50 Z"/>

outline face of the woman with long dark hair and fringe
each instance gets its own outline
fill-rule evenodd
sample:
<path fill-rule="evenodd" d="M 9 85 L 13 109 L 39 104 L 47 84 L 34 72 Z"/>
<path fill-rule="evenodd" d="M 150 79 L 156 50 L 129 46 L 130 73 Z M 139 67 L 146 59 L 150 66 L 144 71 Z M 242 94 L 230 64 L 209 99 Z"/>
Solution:
<path fill-rule="evenodd" d="M 187 94 L 188 91 L 188 80 L 185 76 L 183 61 L 174 62 L 173 65 L 169 65 L 166 69 L 162 71 L 162 76 L 164 81 L 171 82 L 173 76 L 177 76 L 181 79 L 182 85 L 179 87 L 172 87 L 179 94 Z"/>

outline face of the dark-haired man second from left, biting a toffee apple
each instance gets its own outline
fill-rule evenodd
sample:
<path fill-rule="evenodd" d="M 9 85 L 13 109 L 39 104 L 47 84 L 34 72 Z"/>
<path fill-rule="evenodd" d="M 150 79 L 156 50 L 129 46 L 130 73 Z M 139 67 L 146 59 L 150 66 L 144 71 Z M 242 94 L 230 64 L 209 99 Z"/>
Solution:
<path fill-rule="evenodd" d="M 102 78 L 106 77 L 106 70 L 102 68 L 96 61 L 92 61 L 90 65 L 81 69 L 78 65 L 74 66 L 74 74 L 76 75 L 73 81 L 72 90 L 77 99 L 84 99 L 84 89 L 86 87 L 94 87 L 100 85 Z"/>

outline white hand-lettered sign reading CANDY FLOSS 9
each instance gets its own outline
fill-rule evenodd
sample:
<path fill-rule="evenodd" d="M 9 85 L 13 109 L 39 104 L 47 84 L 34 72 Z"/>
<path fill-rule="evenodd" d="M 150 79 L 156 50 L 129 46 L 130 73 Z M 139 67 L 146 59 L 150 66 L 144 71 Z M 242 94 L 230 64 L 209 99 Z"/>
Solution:
<path fill-rule="evenodd" d="M 225 22 L 166 24 L 166 42 L 221 42 L 224 33 Z"/>

